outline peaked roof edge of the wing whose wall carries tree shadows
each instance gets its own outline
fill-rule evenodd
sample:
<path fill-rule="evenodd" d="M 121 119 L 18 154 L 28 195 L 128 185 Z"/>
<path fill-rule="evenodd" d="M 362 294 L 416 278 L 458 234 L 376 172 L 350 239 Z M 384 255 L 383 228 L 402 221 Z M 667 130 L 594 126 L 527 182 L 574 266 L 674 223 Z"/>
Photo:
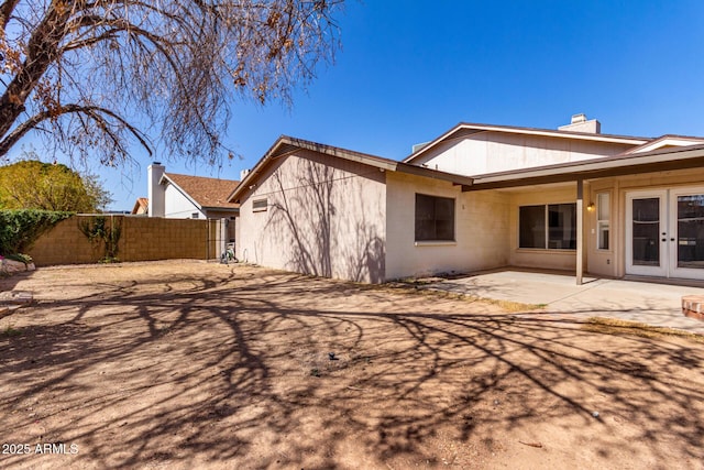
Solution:
<path fill-rule="evenodd" d="M 271 161 L 279 156 L 289 155 L 299 150 L 308 150 L 317 152 L 330 157 L 342 159 L 351 162 L 362 163 L 377 167 L 381 171 L 399 172 L 417 176 L 425 176 L 433 179 L 446 181 L 463 187 L 472 184 L 472 178 L 462 175 L 455 175 L 452 173 L 439 172 L 437 170 L 424 168 L 417 165 L 410 165 L 403 162 L 397 162 L 391 159 L 383 159 L 376 155 L 370 155 L 367 153 L 355 152 L 352 150 L 340 149 L 337 146 L 324 145 L 317 142 L 306 141 L 302 139 L 296 139 L 288 135 L 282 135 L 271 146 L 271 149 L 264 154 L 264 156 L 254 165 L 254 168 L 240 182 L 240 185 L 228 197 L 228 200 L 237 200 L 245 188 L 249 188 L 262 173 L 262 171 L 268 165 Z"/>

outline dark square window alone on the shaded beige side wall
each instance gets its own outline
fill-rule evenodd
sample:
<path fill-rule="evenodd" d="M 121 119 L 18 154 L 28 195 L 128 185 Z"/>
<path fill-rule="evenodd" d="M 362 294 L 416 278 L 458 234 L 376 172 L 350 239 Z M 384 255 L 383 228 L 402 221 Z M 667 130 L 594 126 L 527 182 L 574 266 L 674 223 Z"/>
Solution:
<path fill-rule="evenodd" d="M 454 241 L 454 199 L 416 194 L 416 241 Z"/>

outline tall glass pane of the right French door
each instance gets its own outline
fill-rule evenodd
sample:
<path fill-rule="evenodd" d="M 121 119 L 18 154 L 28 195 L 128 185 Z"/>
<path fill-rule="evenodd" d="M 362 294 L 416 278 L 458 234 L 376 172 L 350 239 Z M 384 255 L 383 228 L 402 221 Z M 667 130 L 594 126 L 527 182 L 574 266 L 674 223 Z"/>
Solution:
<path fill-rule="evenodd" d="M 678 196 L 678 267 L 704 267 L 704 195 Z"/>

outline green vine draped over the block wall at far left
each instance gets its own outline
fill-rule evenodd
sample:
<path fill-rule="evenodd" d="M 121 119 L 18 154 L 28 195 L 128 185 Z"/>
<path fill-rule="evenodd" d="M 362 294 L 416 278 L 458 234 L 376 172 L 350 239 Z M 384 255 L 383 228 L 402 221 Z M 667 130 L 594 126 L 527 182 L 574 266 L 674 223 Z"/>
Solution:
<path fill-rule="evenodd" d="M 26 252 L 42 233 L 70 216 L 73 212 L 34 209 L 0 210 L 0 253 Z"/>

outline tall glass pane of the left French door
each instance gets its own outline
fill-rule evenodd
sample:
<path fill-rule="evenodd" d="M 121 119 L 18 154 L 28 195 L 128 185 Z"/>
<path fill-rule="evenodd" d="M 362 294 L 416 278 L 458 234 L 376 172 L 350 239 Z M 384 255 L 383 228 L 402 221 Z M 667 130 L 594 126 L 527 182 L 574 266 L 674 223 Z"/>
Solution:
<path fill-rule="evenodd" d="M 634 199 L 632 204 L 632 264 L 659 266 L 660 198 Z"/>

